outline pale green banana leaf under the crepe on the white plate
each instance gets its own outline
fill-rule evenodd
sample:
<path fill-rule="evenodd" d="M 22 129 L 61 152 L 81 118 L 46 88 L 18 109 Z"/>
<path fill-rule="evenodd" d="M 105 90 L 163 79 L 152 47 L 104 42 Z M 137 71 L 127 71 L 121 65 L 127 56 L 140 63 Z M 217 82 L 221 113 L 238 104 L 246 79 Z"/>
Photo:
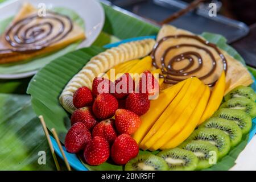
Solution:
<path fill-rule="evenodd" d="M 55 7 L 53 9 L 56 13 L 60 13 L 63 15 L 69 16 L 73 22 L 77 23 L 80 27 L 85 29 L 84 20 L 80 18 L 80 16 L 73 10 L 69 10 L 64 7 Z M 0 21 L 0 34 L 6 30 L 6 27 L 9 26 L 13 17 L 6 18 Z M 50 61 L 56 59 L 57 57 L 63 56 L 68 52 L 74 51 L 77 46 L 79 46 L 79 42 L 73 43 L 60 51 L 56 51 L 49 55 L 44 55 L 40 57 L 36 57 L 30 60 L 20 61 L 19 63 L 7 63 L 0 65 L 0 74 L 15 74 L 15 73 L 24 73 L 29 71 L 35 71 L 40 68 L 43 68 L 44 65 L 48 64 Z"/>

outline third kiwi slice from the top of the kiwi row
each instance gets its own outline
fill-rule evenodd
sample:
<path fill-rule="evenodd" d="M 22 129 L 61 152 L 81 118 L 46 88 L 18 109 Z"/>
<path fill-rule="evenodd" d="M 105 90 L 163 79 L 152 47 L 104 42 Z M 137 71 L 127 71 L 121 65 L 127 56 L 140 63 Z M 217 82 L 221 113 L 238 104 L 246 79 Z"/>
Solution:
<path fill-rule="evenodd" d="M 236 122 L 241 128 L 242 134 L 249 133 L 251 129 L 251 117 L 242 110 L 222 108 L 213 114 L 213 117 L 228 119 Z"/>

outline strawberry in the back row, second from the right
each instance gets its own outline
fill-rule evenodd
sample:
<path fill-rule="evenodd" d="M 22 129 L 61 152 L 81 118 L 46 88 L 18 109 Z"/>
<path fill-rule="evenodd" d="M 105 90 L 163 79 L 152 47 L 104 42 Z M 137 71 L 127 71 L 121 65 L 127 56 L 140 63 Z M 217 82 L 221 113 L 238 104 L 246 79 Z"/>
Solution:
<path fill-rule="evenodd" d="M 135 83 L 133 78 L 129 75 L 129 73 L 123 74 L 114 82 L 115 84 L 115 93 L 113 96 L 115 98 L 123 99 L 128 96 L 129 93 L 134 91 Z"/>

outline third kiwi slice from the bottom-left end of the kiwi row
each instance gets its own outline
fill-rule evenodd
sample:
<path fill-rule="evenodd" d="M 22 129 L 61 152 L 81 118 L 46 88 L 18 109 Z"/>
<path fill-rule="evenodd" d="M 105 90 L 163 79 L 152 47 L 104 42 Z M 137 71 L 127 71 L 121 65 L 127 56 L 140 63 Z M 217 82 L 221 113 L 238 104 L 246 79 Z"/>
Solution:
<path fill-rule="evenodd" d="M 183 142 L 179 147 L 191 151 L 197 156 L 199 159 L 197 170 L 209 168 L 218 160 L 218 148 L 207 141 L 191 140 Z"/>

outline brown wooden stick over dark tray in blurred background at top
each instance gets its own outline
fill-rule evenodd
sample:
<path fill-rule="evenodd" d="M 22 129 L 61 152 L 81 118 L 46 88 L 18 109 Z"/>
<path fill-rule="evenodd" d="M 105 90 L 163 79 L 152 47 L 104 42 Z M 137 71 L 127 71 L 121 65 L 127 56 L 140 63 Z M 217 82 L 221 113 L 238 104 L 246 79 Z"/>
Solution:
<path fill-rule="evenodd" d="M 171 16 L 169 16 L 168 18 L 166 18 L 162 22 L 160 22 L 160 24 L 167 24 L 167 23 L 172 22 L 173 20 L 175 20 L 176 18 L 179 18 L 183 14 L 188 13 L 189 11 L 195 9 L 203 1 L 205 1 L 205 0 L 195 0 L 195 1 L 193 1 L 185 9 L 177 11 L 176 13 L 172 14 Z"/>

